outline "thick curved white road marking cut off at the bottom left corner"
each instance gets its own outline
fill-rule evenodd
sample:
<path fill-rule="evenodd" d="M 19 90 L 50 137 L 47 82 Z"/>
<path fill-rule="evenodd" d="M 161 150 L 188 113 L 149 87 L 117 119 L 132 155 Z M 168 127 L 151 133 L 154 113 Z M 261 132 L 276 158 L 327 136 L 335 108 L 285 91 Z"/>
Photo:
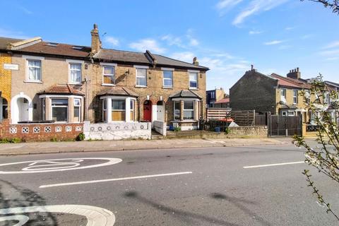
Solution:
<path fill-rule="evenodd" d="M 0 209 L 0 215 L 8 214 L 23 214 L 23 213 L 69 213 L 76 215 L 83 215 L 87 218 L 86 226 L 112 226 L 115 222 L 114 214 L 104 208 L 95 206 L 83 206 L 83 205 L 57 205 L 57 206 L 28 206 Z M 27 220 L 22 215 L 19 217 L 22 221 Z M 0 218 L 0 222 L 8 220 L 6 218 Z"/>

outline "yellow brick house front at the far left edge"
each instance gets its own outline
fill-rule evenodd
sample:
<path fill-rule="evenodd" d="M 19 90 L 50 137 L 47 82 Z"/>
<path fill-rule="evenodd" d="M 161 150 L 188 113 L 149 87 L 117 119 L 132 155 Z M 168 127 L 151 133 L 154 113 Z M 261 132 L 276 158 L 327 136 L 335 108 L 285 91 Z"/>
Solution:
<path fill-rule="evenodd" d="M 0 53 L 0 91 L 1 97 L 8 102 L 8 118 L 10 118 L 11 109 L 11 70 L 5 70 L 4 64 L 11 64 L 10 54 Z"/>

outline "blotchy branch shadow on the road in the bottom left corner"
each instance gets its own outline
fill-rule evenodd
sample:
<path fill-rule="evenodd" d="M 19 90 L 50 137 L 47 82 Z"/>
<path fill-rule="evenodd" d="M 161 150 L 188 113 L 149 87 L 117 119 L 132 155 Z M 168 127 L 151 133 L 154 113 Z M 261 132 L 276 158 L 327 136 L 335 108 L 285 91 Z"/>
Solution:
<path fill-rule="evenodd" d="M 20 186 L 15 186 L 10 182 L 0 179 L 0 210 L 28 206 L 46 206 L 46 202 L 44 198 L 42 198 L 42 196 L 37 194 L 35 191 L 25 189 Z M 8 217 L 10 215 L 12 214 L 0 215 L 0 218 Z M 19 215 L 27 215 L 29 217 L 29 221 L 25 224 L 28 226 L 58 225 L 56 218 L 54 218 L 54 216 L 50 213 Z M 3 222 L 0 221 L 1 226 L 16 225 L 16 223 L 18 223 L 16 220 L 8 220 Z"/>

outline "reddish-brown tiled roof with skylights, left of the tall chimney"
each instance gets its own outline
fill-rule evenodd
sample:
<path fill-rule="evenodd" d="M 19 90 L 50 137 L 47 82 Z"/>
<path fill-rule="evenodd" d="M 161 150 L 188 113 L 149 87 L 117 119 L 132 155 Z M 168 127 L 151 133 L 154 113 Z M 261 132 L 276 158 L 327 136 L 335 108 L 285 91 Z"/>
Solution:
<path fill-rule="evenodd" d="M 62 44 L 54 42 L 39 42 L 28 47 L 18 49 L 20 52 L 32 52 L 37 54 L 51 54 L 65 57 L 89 57 L 90 47 L 77 46 L 73 44 Z"/>

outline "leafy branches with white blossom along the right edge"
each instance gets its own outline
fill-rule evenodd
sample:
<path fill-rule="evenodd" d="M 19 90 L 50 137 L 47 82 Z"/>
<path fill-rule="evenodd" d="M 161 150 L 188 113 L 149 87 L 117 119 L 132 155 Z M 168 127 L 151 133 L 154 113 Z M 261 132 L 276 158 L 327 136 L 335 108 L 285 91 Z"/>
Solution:
<path fill-rule="evenodd" d="M 310 90 L 302 92 L 302 96 L 305 102 L 309 103 L 311 114 L 314 115 L 314 124 L 317 128 L 318 137 L 316 141 L 320 144 L 320 148 L 312 148 L 304 138 L 299 136 L 295 136 L 294 143 L 299 147 L 306 148 L 304 155 L 305 162 L 308 165 L 315 167 L 318 172 L 339 183 L 338 92 L 334 89 L 331 90 L 320 75 L 311 83 Z M 331 109 L 331 112 L 329 109 Z M 330 203 L 322 196 L 321 191 L 316 188 L 315 182 L 311 179 L 309 169 L 304 169 L 302 174 L 307 178 L 308 186 L 313 189 L 319 204 L 326 208 L 327 213 L 332 213 L 339 220 Z"/>

